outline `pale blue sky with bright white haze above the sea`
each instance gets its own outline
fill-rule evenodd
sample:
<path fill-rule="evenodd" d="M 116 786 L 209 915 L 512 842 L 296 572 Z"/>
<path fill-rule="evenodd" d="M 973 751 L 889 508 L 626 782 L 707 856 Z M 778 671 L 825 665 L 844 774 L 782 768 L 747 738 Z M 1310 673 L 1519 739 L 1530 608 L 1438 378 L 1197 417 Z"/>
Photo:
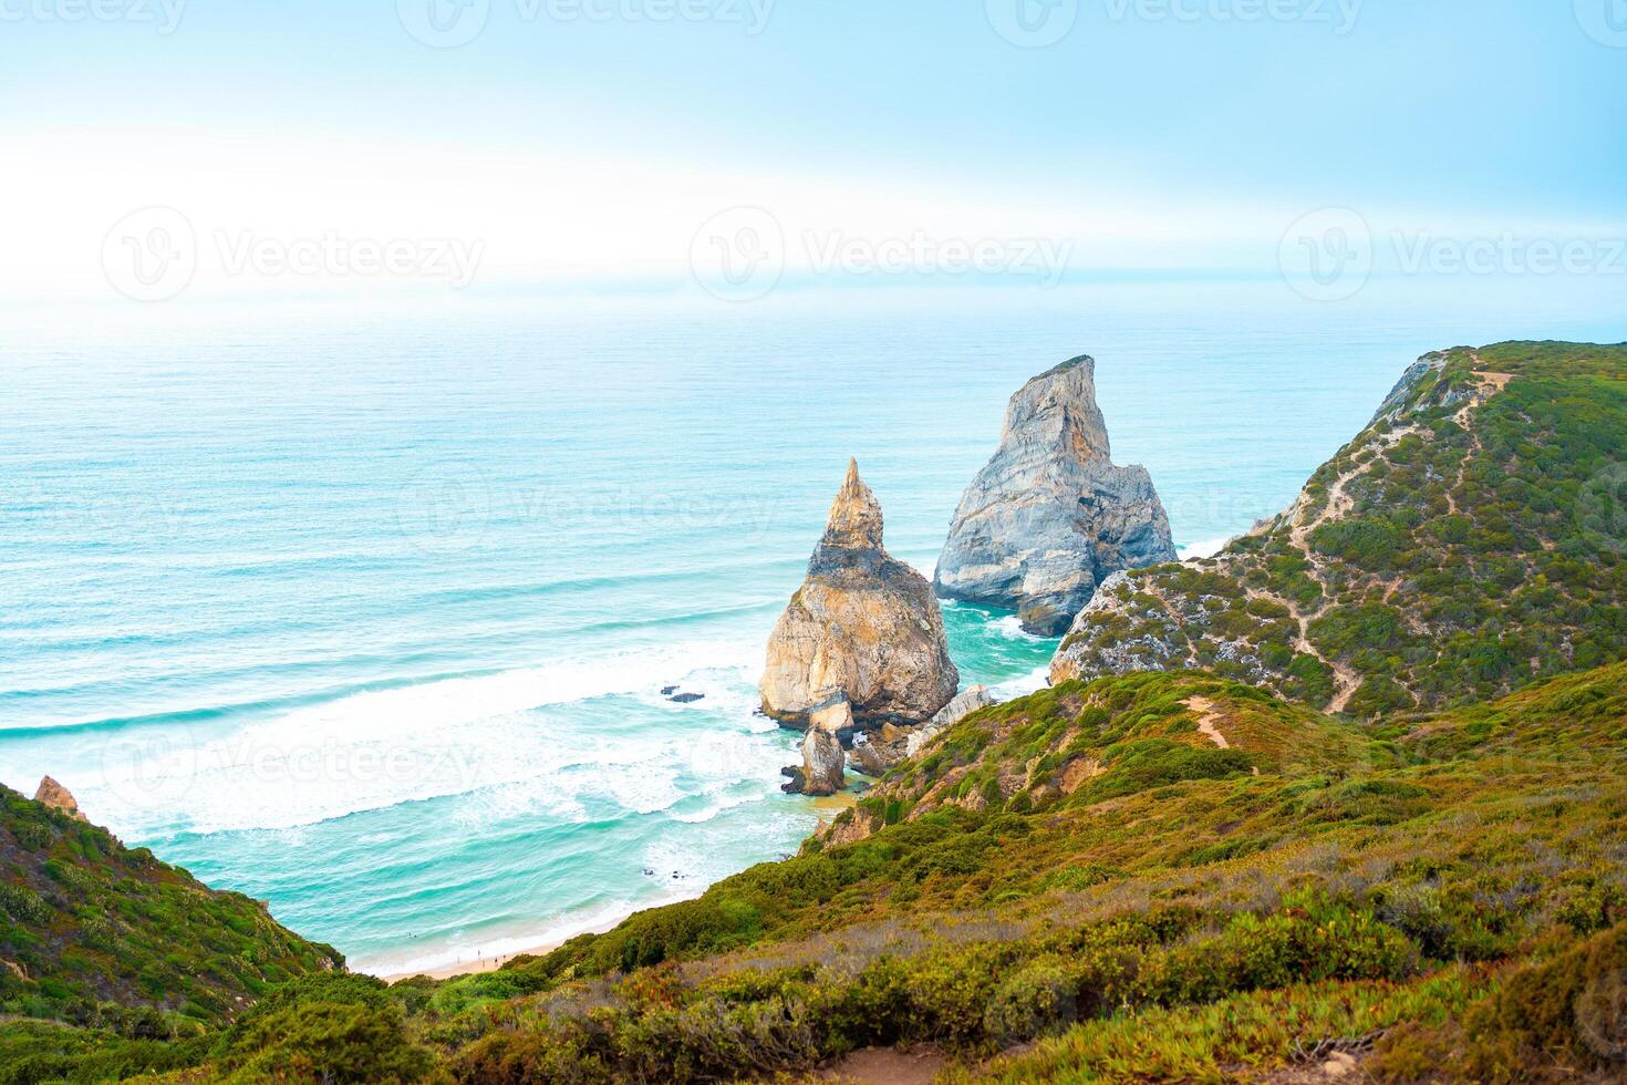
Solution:
<path fill-rule="evenodd" d="M 1352 234 L 1363 275 L 1627 237 L 1627 0 L 0 0 L 0 101 L 13 298 L 1318 290 Z"/>

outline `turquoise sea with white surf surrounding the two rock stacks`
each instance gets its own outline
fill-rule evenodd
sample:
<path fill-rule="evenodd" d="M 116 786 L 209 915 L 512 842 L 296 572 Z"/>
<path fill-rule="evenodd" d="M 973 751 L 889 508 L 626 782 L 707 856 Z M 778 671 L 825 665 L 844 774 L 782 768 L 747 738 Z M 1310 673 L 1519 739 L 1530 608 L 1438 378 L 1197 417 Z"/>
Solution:
<path fill-rule="evenodd" d="M 1627 338 L 1614 293 L 1538 286 L 15 319 L 0 779 L 360 968 L 688 896 L 817 823 L 753 685 L 849 455 L 931 571 L 1005 399 L 1088 351 L 1116 459 L 1212 547 L 1424 350 Z M 966 682 L 1041 680 L 1053 643 L 945 617 Z"/>

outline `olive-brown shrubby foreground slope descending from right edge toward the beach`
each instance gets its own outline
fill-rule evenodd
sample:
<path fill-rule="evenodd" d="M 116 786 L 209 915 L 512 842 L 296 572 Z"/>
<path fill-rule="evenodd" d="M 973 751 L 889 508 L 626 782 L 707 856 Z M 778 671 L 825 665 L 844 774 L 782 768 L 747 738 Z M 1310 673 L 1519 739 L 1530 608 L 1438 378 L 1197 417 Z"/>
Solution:
<path fill-rule="evenodd" d="M 1219 750 L 1193 696 L 1243 761 L 1114 758 Z M 301 981 L 197 1080 L 332 1065 L 319 1025 L 347 1015 L 368 1025 L 347 1052 L 418 1059 L 402 1080 L 734 1080 L 900 1041 L 1012 1082 L 1250 1078 L 1333 1049 L 1381 1080 L 1616 1067 L 1627 664 L 1372 729 L 1209 675 L 1105 678 L 968 717 L 940 747 L 960 765 L 888 789 L 1035 747 L 1105 771 L 900 815 L 498 973 Z"/>

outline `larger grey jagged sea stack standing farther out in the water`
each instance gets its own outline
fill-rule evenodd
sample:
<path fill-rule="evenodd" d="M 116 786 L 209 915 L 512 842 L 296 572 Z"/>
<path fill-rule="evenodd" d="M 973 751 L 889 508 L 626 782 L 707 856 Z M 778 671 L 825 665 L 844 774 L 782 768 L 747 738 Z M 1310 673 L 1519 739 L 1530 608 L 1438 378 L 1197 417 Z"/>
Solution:
<path fill-rule="evenodd" d="M 1028 381 L 1005 408 L 994 459 L 966 486 L 937 561 L 949 599 L 1017 610 L 1059 636 L 1119 569 L 1175 561 L 1144 467 L 1116 467 L 1087 356 Z"/>

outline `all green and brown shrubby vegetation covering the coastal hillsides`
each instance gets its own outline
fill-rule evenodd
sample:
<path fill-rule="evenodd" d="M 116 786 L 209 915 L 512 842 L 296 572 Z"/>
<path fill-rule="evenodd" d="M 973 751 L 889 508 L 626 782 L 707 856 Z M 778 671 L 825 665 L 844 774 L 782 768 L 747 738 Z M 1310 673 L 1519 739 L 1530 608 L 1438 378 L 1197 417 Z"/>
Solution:
<path fill-rule="evenodd" d="M 1347 514 L 1119 589 L 1139 672 L 975 712 L 796 857 L 495 973 L 345 974 L 5 792 L 0 1085 L 796 1080 L 923 1043 L 949 1082 L 1622 1080 L 1620 564 L 1577 481 L 1614 359 L 1430 359 L 1311 481 Z"/>

